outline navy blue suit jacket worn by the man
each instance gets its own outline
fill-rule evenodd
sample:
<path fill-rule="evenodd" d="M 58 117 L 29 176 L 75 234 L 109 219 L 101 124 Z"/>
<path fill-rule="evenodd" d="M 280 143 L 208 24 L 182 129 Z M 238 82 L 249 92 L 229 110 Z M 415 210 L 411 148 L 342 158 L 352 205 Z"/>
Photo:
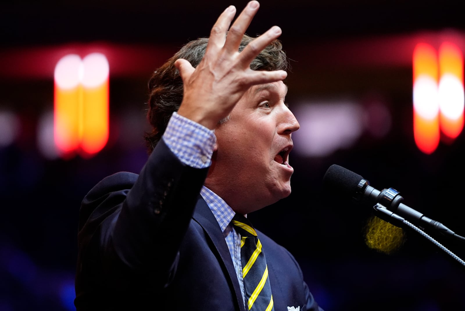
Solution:
<path fill-rule="evenodd" d="M 140 174 L 119 172 L 80 208 L 75 305 L 83 310 L 246 311 L 225 238 L 199 195 L 208 168 L 163 141 Z M 274 310 L 320 310 L 292 255 L 262 232 Z"/>

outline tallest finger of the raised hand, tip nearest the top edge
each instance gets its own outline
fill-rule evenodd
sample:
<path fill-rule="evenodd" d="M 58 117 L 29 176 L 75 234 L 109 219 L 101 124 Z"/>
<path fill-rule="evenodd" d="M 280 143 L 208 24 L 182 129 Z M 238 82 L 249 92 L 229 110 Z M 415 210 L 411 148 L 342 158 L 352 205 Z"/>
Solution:
<path fill-rule="evenodd" d="M 246 33 L 247 28 L 252 22 L 253 17 L 259 9 L 259 2 L 256 0 L 250 1 L 247 6 L 239 14 L 238 18 L 234 21 L 225 42 L 225 48 L 227 51 L 234 53 L 237 52 L 240 41 L 244 33 Z"/>

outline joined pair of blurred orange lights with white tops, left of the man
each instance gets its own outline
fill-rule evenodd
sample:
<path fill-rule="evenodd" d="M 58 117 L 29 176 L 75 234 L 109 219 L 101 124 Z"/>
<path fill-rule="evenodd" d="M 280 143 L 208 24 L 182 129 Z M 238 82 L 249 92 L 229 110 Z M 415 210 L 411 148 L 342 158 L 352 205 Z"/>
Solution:
<path fill-rule="evenodd" d="M 66 55 L 55 67 L 54 140 L 64 158 L 90 157 L 108 141 L 109 65 L 105 55 Z"/>

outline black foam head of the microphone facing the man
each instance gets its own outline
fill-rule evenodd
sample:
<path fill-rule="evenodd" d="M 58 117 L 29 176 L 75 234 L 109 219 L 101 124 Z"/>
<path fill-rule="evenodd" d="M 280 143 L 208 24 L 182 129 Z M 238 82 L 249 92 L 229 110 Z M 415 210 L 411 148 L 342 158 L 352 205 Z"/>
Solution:
<path fill-rule="evenodd" d="M 359 174 L 333 164 L 323 177 L 323 189 L 339 199 L 351 199 L 360 192 L 359 182 L 362 179 Z M 368 181 L 366 182 L 369 184 Z"/>

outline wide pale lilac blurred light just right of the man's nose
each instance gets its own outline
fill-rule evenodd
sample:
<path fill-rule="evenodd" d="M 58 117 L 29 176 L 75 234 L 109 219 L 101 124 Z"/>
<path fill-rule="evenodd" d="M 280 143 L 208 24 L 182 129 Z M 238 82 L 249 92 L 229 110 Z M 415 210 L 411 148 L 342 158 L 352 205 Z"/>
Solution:
<path fill-rule="evenodd" d="M 363 132 L 363 110 L 351 102 L 306 103 L 293 109 L 300 129 L 292 133 L 295 151 L 326 156 L 349 148 Z"/>

